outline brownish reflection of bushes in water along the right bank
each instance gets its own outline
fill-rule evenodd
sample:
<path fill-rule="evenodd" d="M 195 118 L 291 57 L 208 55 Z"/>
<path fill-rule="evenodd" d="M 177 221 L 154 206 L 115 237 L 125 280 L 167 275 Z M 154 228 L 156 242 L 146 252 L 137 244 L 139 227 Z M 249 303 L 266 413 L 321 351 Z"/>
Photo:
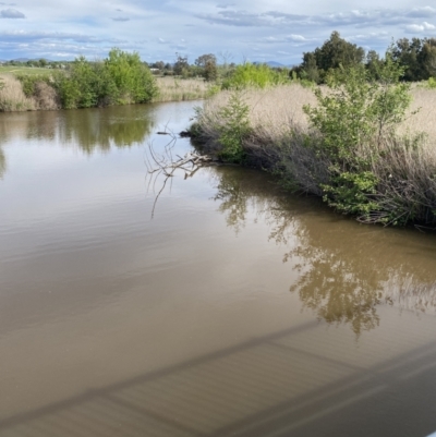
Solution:
<path fill-rule="evenodd" d="M 283 262 L 299 272 L 291 292 L 319 319 L 359 336 L 379 325 L 382 304 L 435 313 L 435 235 L 360 226 L 281 193 L 258 172 L 222 168 L 217 175 L 214 199 L 228 226 L 240 232 L 249 211 L 270 226 L 269 239 L 287 247 Z"/>

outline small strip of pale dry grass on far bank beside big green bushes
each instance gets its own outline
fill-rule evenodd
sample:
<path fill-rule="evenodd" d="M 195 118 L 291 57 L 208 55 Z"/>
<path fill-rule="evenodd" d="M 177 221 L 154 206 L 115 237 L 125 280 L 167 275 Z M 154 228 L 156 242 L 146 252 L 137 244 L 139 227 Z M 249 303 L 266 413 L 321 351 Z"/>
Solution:
<path fill-rule="evenodd" d="M 183 101 L 204 99 L 210 94 L 210 85 L 202 78 L 157 77 L 157 101 Z"/>

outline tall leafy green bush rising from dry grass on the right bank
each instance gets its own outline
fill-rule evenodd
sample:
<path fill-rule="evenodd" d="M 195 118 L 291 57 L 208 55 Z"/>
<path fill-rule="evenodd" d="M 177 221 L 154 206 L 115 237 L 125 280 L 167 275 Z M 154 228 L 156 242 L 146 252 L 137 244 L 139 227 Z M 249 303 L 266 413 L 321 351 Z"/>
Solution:
<path fill-rule="evenodd" d="M 310 147 L 330 162 L 330 182 L 322 186 L 330 206 L 362 218 L 379 208 L 372 162 L 410 105 L 410 85 L 399 81 L 402 73 L 389 53 L 378 71 L 379 81 L 371 78 L 364 65 L 332 71 L 328 90 L 315 89 L 318 106 L 304 107 L 322 137 Z"/>

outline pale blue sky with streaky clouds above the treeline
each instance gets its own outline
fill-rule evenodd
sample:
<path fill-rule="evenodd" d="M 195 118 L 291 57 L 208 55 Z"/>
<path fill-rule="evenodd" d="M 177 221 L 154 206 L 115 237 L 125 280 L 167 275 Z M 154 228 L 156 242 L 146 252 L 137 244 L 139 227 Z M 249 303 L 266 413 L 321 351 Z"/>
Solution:
<path fill-rule="evenodd" d="M 433 5 L 432 5 L 433 4 Z M 299 64 L 338 31 L 384 53 L 399 38 L 436 37 L 434 0 L 19 0 L 0 1 L 0 60 L 102 59 L 118 47 L 147 62 Z"/>

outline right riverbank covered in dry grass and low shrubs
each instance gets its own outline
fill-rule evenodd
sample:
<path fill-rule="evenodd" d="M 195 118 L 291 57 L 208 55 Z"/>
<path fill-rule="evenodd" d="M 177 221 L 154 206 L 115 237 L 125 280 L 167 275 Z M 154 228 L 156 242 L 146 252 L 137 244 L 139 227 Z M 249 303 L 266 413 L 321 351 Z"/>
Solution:
<path fill-rule="evenodd" d="M 324 151 L 303 110 L 317 99 L 299 84 L 220 93 L 205 101 L 191 133 L 207 153 L 275 173 L 286 187 L 322 196 L 362 222 L 434 228 L 436 93 L 413 87 L 411 96 L 396 132 L 359 144 L 344 170 Z"/>

